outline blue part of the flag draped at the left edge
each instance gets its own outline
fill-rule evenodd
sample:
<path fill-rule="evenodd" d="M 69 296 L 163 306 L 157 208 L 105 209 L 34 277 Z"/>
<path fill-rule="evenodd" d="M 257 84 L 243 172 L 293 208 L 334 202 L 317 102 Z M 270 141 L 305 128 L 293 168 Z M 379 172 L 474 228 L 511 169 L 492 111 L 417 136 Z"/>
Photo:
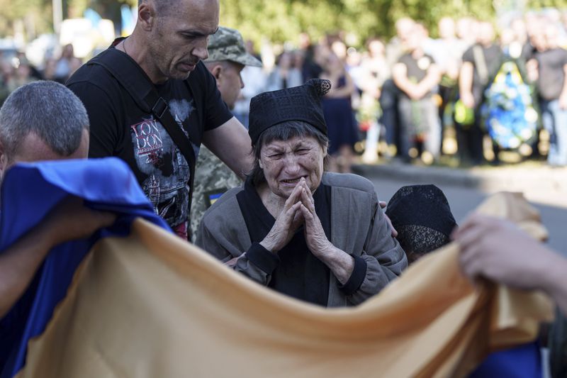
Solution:
<path fill-rule="evenodd" d="M 40 223 L 64 197 L 79 196 L 92 209 L 118 213 L 113 226 L 88 240 L 50 251 L 25 294 L 0 320 L 0 377 L 13 377 L 26 362 L 28 340 L 43 333 L 55 306 L 67 294 L 75 269 L 100 238 L 128 235 L 137 217 L 169 231 L 130 168 L 116 157 L 16 165 L 1 187 L 0 253 Z"/>

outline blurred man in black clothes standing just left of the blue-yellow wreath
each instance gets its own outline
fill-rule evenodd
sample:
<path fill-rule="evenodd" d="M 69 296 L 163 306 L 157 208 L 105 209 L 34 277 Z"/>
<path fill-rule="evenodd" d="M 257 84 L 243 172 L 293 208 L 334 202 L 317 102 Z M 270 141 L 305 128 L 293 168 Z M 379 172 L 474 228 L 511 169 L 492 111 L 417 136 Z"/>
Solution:
<path fill-rule="evenodd" d="M 503 52 L 494 43 L 494 28 L 488 22 L 478 23 L 478 42 L 463 55 L 459 77 L 459 96 L 464 106 L 474 109 L 474 123 L 470 126 L 457 125 L 456 136 L 461 160 L 471 160 L 473 165 L 483 162 L 483 128 L 481 126 L 481 105 L 484 90 L 503 62 Z M 495 156 L 498 158 L 498 155 Z"/>

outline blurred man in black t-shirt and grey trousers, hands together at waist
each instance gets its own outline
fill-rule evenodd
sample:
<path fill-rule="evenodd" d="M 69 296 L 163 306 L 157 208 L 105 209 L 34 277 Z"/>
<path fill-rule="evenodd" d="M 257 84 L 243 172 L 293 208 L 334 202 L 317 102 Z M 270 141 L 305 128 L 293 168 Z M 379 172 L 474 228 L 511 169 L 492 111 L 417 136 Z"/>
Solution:
<path fill-rule="evenodd" d="M 425 150 L 434 159 L 441 147 L 441 123 L 433 91 L 439 84 L 439 70 L 433 58 L 422 49 L 424 38 L 420 24 L 403 36 L 406 52 L 392 70 L 393 81 L 400 89 L 400 155 L 410 160 L 410 149 L 416 141 L 423 141 Z"/>

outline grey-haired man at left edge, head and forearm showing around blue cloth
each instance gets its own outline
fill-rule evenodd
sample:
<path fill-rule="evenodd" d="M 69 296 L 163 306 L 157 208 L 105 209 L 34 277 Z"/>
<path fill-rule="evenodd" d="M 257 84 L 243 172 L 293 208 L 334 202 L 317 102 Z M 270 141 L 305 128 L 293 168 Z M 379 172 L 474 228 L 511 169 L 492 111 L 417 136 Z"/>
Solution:
<path fill-rule="evenodd" d="M 81 159 L 88 152 L 89 117 L 79 98 L 62 84 L 26 84 L 13 91 L 0 109 L 0 182 L 6 170 L 18 162 Z M 4 204 L 10 204 L 9 192 Z M 33 228 L 33 233 L 3 250 L 0 318 L 23 294 L 51 248 L 87 238 L 95 230 L 110 226 L 115 218 L 111 213 L 87 208 L 78 197 L 67 196 Z"/>

